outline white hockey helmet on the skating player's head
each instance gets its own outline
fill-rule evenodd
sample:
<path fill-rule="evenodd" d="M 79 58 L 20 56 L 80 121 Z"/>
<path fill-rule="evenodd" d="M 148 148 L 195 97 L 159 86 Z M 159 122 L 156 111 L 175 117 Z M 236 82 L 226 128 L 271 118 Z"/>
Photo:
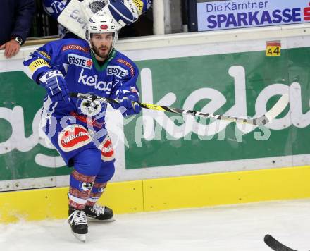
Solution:
<path fill-rule="evenodd" d="M 95 13 L 91 18 L 89 18 L 85 37 L 89 44 L 89 47 L 92 49 L 92 43 L 90 42 L 91 35 L 94 33 L 114 33 L 112 48 L 118 39 L 118 30 L 112 18 L 104 15 L 100 11 Z"/>

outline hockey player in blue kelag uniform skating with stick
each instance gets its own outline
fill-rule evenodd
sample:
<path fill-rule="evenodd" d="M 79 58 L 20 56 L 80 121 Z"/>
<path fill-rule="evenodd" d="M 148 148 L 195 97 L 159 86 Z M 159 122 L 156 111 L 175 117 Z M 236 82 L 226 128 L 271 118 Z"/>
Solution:
<path fill-rule="evenodd" d="M 114 173 L 114 154 L 106 131 L 106 104 L 70 98 L 85 92 L 120 99 L 115 109 L 138 114 L 138 68 L 113 49 L 118 32 L 113 20 L 95 14 L 87 41 L 61 39 L 40 47 L 24 61 L 25 72 L 46 90 L 42 129 L 66 161 L 70 175 L 69 218 L 73 234 L 85 241 L 87 217 L 111 219 L 112 209 L 96 204 Z"/>

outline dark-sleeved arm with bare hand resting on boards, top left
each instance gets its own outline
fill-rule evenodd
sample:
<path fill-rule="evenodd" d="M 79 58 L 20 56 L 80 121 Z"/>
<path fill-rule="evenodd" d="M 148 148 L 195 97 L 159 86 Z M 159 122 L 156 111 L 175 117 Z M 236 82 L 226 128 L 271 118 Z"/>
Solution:
<path fill-rule="evenodd" d="M 34 0 L 15 1 L 15 25 L 11 32 L 11 40 L 2 44 L 0 49 L 5 49 L 4 56 L 11 58 L 18 54 L 20 46 L 25 42 L 30 31 L 32 18 L 35 15 Z"/>

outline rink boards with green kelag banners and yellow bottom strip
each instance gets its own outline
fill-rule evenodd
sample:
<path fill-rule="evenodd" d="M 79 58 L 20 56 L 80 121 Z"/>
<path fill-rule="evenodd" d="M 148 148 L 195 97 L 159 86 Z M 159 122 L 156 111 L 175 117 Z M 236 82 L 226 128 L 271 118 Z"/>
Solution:
<path fill-rule="evenodd" d="M 252 117 L 287 93 L 290 107 L 264 128 L 147 110 L 123 120 L 111 111 L 116 176 L 106 202 L 124 213 L 309 197 L 309 31 L 296 25 L 120 42 L 140 68 L 142 102 Z M 34 49 L 8 61 L 0 54 L 0 211 L 14 205 L 26 219 L 63 217 L 71 170 L 39 135 L 44 90 L 21 71 Z M 46 189 L 5 192 L 27 188 Z M 28 212 L 36 201 L 39 212 Z"/>

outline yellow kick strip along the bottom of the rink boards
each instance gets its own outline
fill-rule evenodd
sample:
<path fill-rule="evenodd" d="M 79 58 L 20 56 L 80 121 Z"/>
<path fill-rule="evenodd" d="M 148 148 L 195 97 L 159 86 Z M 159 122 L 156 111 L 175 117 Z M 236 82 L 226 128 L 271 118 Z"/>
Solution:
<path fill-rule="evenodd" d="M 310 166 L 110 183 L 100 203 L 116 214 L 310 197 Z M 68 188 L 0 192 L 0 223 L 64 219 Z"/>

